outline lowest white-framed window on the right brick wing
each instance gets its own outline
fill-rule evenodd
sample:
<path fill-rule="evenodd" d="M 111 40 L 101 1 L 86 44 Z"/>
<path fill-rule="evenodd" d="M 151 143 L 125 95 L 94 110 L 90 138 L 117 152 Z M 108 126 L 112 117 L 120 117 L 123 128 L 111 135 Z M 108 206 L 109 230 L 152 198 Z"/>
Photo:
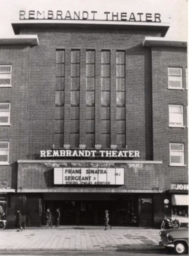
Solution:
<path fill-rule="evenodd" d="M 184 165 L 184 144 L 170 143 L 170 165 Z"/>

